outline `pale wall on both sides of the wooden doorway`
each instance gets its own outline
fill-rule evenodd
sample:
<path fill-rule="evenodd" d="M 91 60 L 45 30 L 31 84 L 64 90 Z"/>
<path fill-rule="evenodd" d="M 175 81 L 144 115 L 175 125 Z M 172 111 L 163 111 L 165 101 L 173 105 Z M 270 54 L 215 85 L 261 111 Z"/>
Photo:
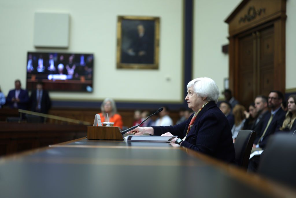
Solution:
<path fill-rule="evenodd" d="M 223 79 L 229 77 L 229 56 L 222 53 L 228 44 L 228 24 L 224 20 L 241 3 L 241 0 L 194 1 L 194 59 L 193 77 L 211 77 L 220 92 Z M 286 23 L 286 89 L 296 88 L 296 1 L 287 1 Z M 220 97 L 224 96 L 220 94 Z"/>

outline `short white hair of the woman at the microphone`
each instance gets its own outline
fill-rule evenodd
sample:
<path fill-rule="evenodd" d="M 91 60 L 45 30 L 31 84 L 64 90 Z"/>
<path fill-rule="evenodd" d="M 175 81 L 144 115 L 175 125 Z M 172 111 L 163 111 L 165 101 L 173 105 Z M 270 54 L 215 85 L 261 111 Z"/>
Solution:
<path fill-rule="evenodd" d="M 207 97 L 207 100 L 217 104 L 219 97 L 219 88 L 211 78 L 202 77 L 191 80 L 187 84 L 187 89 L 193 86 L 193 91 L 199 97 Z"/>

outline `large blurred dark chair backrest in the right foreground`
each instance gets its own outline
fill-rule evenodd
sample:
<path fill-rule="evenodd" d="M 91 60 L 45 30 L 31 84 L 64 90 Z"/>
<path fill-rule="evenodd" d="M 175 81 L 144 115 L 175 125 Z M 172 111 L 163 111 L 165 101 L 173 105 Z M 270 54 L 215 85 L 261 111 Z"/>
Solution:
<path fill-rule="evenodd" d="M 287 133 L 271 136 L 260 156 L 258 173 L 295 188 L 296 137 Z"/>

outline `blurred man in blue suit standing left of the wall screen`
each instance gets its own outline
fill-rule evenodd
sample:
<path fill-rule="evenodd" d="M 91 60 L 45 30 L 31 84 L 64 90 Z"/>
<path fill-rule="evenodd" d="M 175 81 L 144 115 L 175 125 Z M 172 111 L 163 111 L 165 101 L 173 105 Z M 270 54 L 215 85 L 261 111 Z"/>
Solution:
<path fill-rule="evenodd" d="M 6 104 L 12 109 L 27 109 L 29 94 L 27 90 L 21 88 L 20 80 L 15 80 L 15 89 L 9 91 Z"/>

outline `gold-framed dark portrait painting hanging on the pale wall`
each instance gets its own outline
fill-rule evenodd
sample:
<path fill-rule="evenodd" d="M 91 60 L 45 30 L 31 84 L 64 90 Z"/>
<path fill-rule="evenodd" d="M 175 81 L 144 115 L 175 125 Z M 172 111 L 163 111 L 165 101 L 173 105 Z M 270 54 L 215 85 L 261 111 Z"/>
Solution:
<path fill-rule="evenodd" d="M 158 69 L 159 23 L 159 17 L 118 16 L 118 69 Z"/>

